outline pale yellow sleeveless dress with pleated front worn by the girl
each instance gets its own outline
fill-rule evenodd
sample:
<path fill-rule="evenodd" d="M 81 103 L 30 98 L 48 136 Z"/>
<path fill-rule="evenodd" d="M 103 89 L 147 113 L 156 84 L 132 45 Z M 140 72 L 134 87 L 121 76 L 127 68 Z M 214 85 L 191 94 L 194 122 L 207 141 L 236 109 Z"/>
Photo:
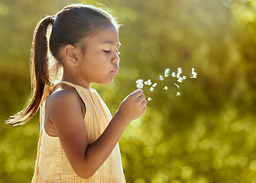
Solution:
<path fill-rule="evenodd" d="M 70 85 L 76 89 L 80 98 L 86 105 L 86 115 L 84 122 L 89 138 L 89 143 L 93 143 L 105 130 L 112 115 L 102 98 L 94 89 L 83 88 L 73 85 L 70 82 L 60 82 Z M 60 84 L 58 83 L 58 84 Z M 44 130 L 44 105 L 47 95 L 44 96 L 41 104 L 41 130 L 37 146 L 37 160 L 34 168 L 32 183 L 35 182 L 79 182 L 79 183 L 124 183 L 125 176 L 122 170 L 121 155 L 118 143 L 105 160 L 97 172 L 91 178 L 84 179 L 76 175 L 70 162 L 66 158 L 63 147 L 57 136 L 49 136 Z"/>

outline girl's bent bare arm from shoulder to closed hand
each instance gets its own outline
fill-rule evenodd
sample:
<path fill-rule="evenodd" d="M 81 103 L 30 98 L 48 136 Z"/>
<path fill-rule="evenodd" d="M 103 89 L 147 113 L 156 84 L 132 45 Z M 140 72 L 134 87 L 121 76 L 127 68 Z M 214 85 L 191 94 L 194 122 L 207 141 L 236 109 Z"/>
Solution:
<path fill-rule="evenodd" d="M 99 139 L 89 145 L 81 105 L 76 95 L 61 92 L 49 105 L 49 117 L 76 174 L 82 178 L 91 177 L 109 157 L 131 120 L 144 115 L 146 105 L 141 90 L 128 95 Z"/>

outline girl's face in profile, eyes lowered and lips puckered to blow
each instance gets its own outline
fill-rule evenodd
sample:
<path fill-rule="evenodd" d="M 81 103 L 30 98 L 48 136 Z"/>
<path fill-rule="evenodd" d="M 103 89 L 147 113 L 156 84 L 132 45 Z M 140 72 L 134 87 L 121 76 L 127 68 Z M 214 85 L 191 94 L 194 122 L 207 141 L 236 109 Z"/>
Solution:
<path fill-rule="evenodd" d="M 84 54 L 79 56 L 79 66 L 76 68 L 79 79 L 110 84 L 119 69 L 119 47 L 118 30 L 114 26 L 98 30 L 87 38 Z"/>

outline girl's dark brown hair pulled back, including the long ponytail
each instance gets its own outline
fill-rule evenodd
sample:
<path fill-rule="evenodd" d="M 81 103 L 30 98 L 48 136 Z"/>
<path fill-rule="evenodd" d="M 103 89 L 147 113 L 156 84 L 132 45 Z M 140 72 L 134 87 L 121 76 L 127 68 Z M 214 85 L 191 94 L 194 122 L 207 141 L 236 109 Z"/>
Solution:
<path fill-rule="evenodd" d="M 83 48 L 84 38 L 95 34 L 100 28 L 114 25 L 118 29 L 119 25 L 111 13 L 112 11 L 106 8 L 74 4 L 66 6 L 56 15 L 47 16 L 37 23 L 34 29 L 30 62 L 32 98 L 26 108 L 6 120 L 7 124 L 17 126 L 28 122 L 37 113 L 44 92 L 53 86 L 53 81 L 50 79 L 48 53 L 51 53 L 57 61 L 57 67 L 62 66 L 59 53 L 67 44 Z M 52 25 L 50 39 L 47 38 L 47 32 L 50 31 L 49 25 Z"/>

